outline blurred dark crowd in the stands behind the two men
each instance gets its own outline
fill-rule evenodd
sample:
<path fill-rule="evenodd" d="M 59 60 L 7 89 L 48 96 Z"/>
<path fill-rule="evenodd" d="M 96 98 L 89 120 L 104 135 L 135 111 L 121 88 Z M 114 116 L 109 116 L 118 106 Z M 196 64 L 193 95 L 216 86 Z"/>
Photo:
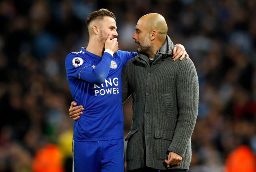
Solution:
<path fill-rule="evenodd" d="M 117 17 L 120 50 L 136 51 L 138 18 L 157 12 L 193 60 L 200 101 L 189 172 L 224 171 L 242 145 L 256 154 L 255 0 L 1 0 L 0 172 L 72 170 L 64 60 L 87 45 L 86 17 L 100 8 Z"/>

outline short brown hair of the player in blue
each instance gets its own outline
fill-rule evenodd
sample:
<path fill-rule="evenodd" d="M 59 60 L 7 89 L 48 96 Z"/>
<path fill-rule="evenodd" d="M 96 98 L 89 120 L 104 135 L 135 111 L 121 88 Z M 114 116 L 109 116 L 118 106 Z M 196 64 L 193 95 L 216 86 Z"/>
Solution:
<path fill-rule="evenodd" d="M 114 13 L 110 12 L 109 10 L 107 9 L 100 9 L 100 10 L 97 10 L 97 11 L 94 11 L 92 12 L 88 17 L 87 17 L 87 20 L 86 20 L 86 25 L 88 27 L 88 25 L 90 24 L 90 22 L 92 22 L 93 20 L 97 20 L 97 19 L 100 19 L 102 20 L 105 16 L 110 16 L 112 18 L 114 18 L 116 20 L 116 16 Z"/>

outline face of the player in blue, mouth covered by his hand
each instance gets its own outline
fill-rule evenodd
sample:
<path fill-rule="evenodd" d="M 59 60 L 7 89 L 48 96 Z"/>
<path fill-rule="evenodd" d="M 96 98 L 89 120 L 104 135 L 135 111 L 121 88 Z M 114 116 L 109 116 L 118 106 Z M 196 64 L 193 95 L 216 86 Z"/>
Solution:
<path fill-rule="evenodd" d="M 105 43 L 108 38 L 108 34 L 110 33 L 112 33 L 112 37 L 110 39 L 118 36 L 116 29 L 115 19 L 109 16 L 104 17 L 102 26 L 100 27 L 100 42 Z"/>

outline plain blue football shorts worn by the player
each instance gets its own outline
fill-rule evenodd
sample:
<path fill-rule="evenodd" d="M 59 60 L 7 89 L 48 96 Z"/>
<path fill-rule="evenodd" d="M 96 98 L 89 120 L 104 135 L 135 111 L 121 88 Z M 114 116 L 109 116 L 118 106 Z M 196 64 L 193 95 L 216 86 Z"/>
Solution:
<path fill-rule="evenodd" d="M 124 172 L 124 140 L 73 140 L 73 172 Z"/>

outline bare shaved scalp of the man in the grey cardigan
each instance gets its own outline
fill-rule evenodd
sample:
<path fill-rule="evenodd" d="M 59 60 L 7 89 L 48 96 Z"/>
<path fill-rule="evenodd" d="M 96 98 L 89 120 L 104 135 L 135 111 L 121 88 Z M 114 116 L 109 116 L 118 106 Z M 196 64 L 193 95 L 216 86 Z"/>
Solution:
<path fill-rule="evenodd" d="M 148 28 L 148 31 L 156 30 L 158 33 L 158 38 L 160 40 L 166 39 L 166 34 L 168 31 L 168 27 L 164 17 L 158 13 L 150 13 L 142 16 L 138 23 L 144 25 L 144 27 Z M 138 24 L 137 23 L 137 24 Z"/>

